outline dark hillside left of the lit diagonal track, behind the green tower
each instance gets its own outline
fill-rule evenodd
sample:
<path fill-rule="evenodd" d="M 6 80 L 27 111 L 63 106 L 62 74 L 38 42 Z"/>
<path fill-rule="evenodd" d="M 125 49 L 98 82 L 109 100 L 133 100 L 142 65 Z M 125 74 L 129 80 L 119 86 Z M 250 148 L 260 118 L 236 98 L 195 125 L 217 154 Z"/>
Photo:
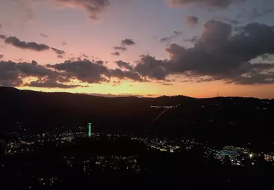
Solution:
<path fill-rule="evenodd" d="M 0 87 L 1 123 L 2 128 L 11 128 L 20 122 L 39 131 L 93 122 L 100 131 L 135 133 L 144 131 L 159 114 L 151 105 L 176 105 L 183 98 L 104 98 Z"/>

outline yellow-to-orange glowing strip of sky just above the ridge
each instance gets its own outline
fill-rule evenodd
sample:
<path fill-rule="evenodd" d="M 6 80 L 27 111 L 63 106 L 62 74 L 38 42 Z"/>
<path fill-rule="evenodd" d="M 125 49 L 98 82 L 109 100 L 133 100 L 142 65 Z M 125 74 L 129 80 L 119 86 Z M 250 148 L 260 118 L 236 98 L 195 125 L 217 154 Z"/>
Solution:
<path fill-rule="evenodd" d="M 113 80 L 115 81 L 115 80 Z M 161 83 L 139 83 L 123 80 L 117 85 L 110 83 L 89 84 L 89 87 L 76 87 L 69 89 L 41 88 L 41 87 L 17 87 L 21 90 L 34 90 L 42 92 L 70 92 L 82 94 L 113 94 L 113 95 L 135 95 L 135 96 L 175 96 L 183 95 L 194 98 L 209 98 L 217 96 L 244 96 L 255 98 L 274 97 L 274 91 L 269 92 L 268 87 L 274 89 L 274 85 L 251 87 L 251 85 L 233 85 L 224 82 L 209 83 L 173 83 L 173 85 L 163 85 Z M 76 84 L 76 83 L 74 83 Z M 80 83 L 81 85 L 87 85 Z M 258 87 L 260 90 L 258 90 Z"/>

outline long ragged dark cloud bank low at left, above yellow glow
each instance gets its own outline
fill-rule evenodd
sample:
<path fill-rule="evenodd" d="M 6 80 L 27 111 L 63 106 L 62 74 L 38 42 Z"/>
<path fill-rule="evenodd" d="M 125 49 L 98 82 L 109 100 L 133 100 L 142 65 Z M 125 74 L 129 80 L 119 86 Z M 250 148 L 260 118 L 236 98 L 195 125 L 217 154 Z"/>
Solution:
<path fill-rule="evenodd" d="M 36 77 L 36 81 L 23 83 L 26 77 Z M 58 87 L 72 88 L 82 87 L 73 85 L 71 81 L 78 79 L 87 83 L 103 83 L 110 78 L 130 79 L 143 81 L 134 71 L 122 71 L 109 69 L 102 60 L 90 61 L 78 59 L 78 61 L 65 61 L 60 64 L 41 66 L 37 62 L 0 62 L 0 85 L 6 86 L 32 86 L 32 87 Z M 109 79 L 108 79 L 109 78 Z"/>

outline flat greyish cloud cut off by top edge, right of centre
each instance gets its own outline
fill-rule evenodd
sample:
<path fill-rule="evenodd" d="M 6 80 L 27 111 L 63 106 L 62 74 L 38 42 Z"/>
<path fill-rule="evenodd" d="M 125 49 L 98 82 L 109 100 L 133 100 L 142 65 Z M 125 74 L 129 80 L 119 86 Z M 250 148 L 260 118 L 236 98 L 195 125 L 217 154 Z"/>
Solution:
<path fill-rule="evenodd" d="M 232 3 L 240 3 L 247 0 L 167 0 L 172 7 L 181 7 L 185 5 L 205 6 L 208 8 L 227 8 Z"/>

